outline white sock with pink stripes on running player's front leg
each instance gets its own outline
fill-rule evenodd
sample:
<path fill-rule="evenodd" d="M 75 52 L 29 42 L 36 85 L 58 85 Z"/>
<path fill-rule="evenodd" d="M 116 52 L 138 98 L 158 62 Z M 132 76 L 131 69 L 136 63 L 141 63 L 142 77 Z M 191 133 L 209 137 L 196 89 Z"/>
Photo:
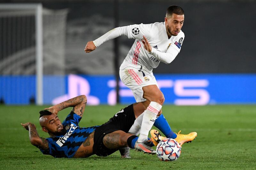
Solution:
<path fill-rule="evenodd" d="M 147 110 L 144 112 L 141 128 L 140 128 L 140 136 L 138 138 L 138 142 L 143 142 L 148 140 L 148 132 L 152 128 L 156 115 L 161 110 L 162 105 L 156 102 L 150 102 Z"/>

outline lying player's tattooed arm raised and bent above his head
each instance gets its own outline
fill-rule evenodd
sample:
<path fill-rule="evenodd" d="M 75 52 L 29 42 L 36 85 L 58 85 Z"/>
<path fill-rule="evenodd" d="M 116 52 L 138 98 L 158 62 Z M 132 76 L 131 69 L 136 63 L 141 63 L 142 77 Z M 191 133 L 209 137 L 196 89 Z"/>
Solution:
<path fill-rule="evenodd" d="M 57 115 L 59 111 L 67 107 L 73 107 L 72 111 L 75 112 L 78 116 L 82 117 L 86 103 L 87 97 L 85 95 L 81 95 L 45 109 Z"/>

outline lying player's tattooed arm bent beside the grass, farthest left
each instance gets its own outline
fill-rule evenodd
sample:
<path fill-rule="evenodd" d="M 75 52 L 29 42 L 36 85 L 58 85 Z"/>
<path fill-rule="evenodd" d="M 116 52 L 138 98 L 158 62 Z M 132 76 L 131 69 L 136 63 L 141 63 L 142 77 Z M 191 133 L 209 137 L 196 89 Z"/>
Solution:
<path fill-rule="evenodd" d="M 23 126 L 23 128 L 28 130 L 30 143 L 32 145 L 42 150 L 46 150 L 49 148 L 47 140 L 38 135 L 36 126 L 33 123 L 30 123 L 30 122 L 25 124 L 21 123 L 21 126 Z"/>

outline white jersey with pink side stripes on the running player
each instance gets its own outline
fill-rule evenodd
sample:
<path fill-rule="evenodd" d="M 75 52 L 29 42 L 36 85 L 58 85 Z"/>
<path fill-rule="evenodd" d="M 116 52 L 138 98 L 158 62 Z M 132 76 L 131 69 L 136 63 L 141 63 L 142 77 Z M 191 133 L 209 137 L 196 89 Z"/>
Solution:
<path fill-rule="evenodd" d="M 145 35 L 152 47 L 150 53 L 143 47 L 143 35 Z M 138 68 L 143 66 L 144 69 L 150 72 L 159 65 L 160 61 L 167 64 L 171 63 L 180 52 L 185 37 L 184 33 L 180 31 L 177 36 L 171 36 L 169 39 L 164 22 L 127 26 L 127 36 L 136 40 L 120 69 L 125 69 L 129 66 L 138 66 Z"/>

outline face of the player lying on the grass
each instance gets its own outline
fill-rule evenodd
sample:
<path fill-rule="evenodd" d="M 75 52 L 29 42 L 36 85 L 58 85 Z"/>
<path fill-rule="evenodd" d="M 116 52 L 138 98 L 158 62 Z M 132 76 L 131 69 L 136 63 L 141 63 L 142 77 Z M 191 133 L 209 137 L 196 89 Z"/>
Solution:
<path fill-rule="evenodd" d="M 45 118 L 47 120 L 44 122 L 43 126 L 45 127 L 45 129 L 47 129 L 49 133 L 53 135 L 62 135 L 66 133 L 57 115 L 51 114 L 48 116 L 44 116 L 44 119 Z"/>

